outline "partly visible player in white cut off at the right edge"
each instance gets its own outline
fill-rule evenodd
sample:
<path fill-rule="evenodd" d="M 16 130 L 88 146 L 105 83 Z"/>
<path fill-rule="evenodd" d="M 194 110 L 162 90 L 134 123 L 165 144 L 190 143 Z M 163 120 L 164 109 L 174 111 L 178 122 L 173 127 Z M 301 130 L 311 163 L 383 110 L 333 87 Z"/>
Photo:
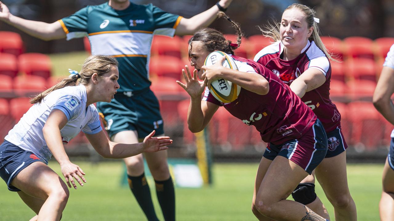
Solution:
<path fill-rule="evenodd" d="M 386 61 L 374 93 L 375 108 L 394 125 L 394 44 L 387 53 Z M 394 130 L 391 132 L 390 151 L 383 168 L 383 192 L 379 203 L 380 219 L 392 220 L 394 217 Z"/>

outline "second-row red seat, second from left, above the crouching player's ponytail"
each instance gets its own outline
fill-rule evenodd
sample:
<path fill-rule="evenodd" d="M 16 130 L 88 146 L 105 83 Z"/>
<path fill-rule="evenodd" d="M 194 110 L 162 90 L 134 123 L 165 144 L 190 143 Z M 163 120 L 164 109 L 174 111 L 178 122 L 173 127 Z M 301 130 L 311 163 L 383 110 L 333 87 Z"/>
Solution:
<path fill-rule="evenodd" d="M 19 70 L 27 75 L 47 78 L 52 75 L 52 63 L 48 55 L 25 53 L 19 56 Z"/>

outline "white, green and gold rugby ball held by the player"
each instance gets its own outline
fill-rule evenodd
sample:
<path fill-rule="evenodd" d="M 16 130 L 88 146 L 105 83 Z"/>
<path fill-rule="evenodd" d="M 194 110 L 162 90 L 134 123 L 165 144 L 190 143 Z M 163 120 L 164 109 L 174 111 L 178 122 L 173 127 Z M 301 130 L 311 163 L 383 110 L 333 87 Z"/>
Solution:
<path fill-rule="evenodd" d="M 237 65 L 235 64 L 234 59 L 230 57 L 227 53 L 216 51 L 212 52 L 206 57 L 204 65 L 210 66 L 215 64 L 219 58 L 225 56 L 225 60 L 223 61 L 222 65 L 226 68 L 238 70 Z M 240 94 L 241 87 L 226 79 L 217 79 L 212 81 L 211 88 L 209 89 L 212 95 L 222 103 L 230 103 L 238 98 Z"/>

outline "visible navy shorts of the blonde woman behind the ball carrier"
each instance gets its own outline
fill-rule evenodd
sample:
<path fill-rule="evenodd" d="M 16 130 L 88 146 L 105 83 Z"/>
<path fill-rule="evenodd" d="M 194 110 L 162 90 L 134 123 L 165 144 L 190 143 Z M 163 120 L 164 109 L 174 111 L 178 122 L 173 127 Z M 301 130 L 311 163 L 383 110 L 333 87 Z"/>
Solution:
<path fill-rule="evenodd" d="M 342 134 L 342 129 L 337 127 L 335 130 L 327 133 L 328 149 L 325 158 L 335 157 L 340 153 L 346 151 L 348 145 Z"/>

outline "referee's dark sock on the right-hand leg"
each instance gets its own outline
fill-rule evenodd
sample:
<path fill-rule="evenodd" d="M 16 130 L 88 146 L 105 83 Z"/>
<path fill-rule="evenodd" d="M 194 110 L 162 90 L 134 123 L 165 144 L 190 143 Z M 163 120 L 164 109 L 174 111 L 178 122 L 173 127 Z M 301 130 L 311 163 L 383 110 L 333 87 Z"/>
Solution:
<path fill-rule="evenodd" d="M 175 191 L 171 176 L 168 180 L 157 181 L 156 194 L 162 208 L 165 221 L 175 221 Z"/>

